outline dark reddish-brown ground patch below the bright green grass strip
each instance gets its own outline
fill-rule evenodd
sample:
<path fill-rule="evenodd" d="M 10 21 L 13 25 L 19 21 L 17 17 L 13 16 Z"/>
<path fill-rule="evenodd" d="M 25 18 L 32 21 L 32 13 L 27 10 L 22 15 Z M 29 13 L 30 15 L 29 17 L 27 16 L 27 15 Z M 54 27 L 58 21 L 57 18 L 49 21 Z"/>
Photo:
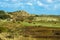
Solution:
<path fill-rule="evenodd" d="M 60 28 L 48 28 L 48 27 L 25 27 L 23 30 L 24 36 L 31 35 L 31 37 L 59 37 L 60 38 Z"/>

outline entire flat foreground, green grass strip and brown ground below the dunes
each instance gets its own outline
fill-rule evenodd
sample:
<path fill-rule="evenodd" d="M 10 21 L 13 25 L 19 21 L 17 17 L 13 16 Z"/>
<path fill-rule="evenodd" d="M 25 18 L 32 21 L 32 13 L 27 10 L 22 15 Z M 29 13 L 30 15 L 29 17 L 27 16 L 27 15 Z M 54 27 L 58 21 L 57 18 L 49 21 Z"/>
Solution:
<path fill-rule="evenodd" d="M 0 38 L 3 40 L 60 40 L 60 38 L 55 38 L 53 36 L 56 33 L 60 35 L 59 22 L 13 23 L 6 21 L 6 22 L 0 22 L 0 27 L 2 28 L 0 29 Z M 53 32 L 54 30 L 56 32 Z M 49 35 L 53 36 L 53 38 L 52 37 L 47 38 L 47 36 Z"/>

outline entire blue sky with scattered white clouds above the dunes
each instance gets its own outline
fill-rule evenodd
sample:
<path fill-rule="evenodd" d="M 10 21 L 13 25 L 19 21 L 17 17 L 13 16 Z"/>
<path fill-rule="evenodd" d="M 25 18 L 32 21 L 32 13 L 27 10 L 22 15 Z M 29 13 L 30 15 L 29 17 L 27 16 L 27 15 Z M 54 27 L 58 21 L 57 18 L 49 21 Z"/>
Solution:
<path fill-rule="evenodd" d="M 0 0 L 0 10 L 60 15 L 60 0 Z"/>

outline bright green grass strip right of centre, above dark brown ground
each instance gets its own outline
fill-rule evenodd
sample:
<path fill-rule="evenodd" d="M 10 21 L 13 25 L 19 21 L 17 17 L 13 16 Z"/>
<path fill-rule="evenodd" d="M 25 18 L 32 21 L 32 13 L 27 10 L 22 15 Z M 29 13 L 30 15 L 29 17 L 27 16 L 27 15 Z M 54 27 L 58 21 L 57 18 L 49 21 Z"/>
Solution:
<path fill-rule="evenodd" d="M 47 26 L 47 27 L 60 27 L 60 23 L 54 23 L 54 22 L 22 22 L 21 23 L 24 26 Z"/>

